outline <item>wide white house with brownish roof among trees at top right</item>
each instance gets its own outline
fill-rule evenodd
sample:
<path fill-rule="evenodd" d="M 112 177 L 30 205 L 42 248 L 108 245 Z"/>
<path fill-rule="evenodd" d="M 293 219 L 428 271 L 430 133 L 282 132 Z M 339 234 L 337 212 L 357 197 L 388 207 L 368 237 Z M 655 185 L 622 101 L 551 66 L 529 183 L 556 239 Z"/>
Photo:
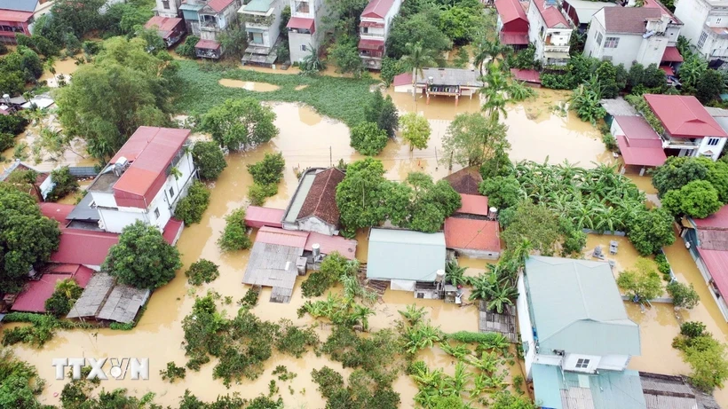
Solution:
<path fill-rule="evenodd" d="M 584 54 L 627 69 L 635 62 L 659 66 L 680 28 L 659 8 L 605 7 L 591 19 Z"/>

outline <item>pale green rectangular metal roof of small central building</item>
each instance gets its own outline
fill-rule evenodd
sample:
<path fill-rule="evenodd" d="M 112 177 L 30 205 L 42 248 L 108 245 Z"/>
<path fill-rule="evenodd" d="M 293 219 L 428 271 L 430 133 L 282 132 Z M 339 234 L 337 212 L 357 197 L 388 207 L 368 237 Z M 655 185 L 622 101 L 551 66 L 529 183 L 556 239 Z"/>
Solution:
<path fill-rule="evenodd" d="M 434 281 L 445 270 L 445 234 L 372 229 L 369 233 L 368 279 Z"/>

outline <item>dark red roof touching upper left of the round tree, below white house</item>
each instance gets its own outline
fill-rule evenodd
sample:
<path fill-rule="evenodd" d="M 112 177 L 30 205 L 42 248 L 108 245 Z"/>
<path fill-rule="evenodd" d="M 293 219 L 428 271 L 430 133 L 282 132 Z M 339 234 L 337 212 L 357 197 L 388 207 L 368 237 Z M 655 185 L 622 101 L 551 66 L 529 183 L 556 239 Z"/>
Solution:
<path fill-rule="evenodd" d="M 108 249 L 119 242 L 119 235 L 81 229 L 61 229 L 58 250 L 51 255 L 53 263 L 101 265 Z"/>

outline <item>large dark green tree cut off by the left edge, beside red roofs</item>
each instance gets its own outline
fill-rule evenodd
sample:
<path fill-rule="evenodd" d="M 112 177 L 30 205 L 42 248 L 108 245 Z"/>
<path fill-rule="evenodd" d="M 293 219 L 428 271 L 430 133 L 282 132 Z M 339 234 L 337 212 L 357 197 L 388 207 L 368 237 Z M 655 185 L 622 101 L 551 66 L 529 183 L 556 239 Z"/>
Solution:
<path fill-rule="evenodd" d="M 58 248 L 59 234 L 58 223 L 41 214 L 33 197 L 0 183 L 0 291 L 20 289 L 30 269 Z"/>

